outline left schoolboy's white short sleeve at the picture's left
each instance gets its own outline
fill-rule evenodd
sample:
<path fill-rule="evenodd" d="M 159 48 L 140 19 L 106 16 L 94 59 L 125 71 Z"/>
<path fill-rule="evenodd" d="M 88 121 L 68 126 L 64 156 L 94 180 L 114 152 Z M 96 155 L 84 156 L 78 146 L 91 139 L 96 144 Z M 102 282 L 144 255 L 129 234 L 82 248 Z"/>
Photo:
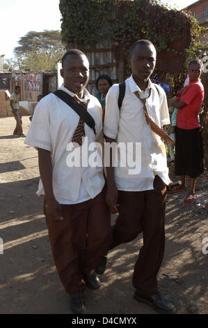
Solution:
<path fill-rule="evenodd" d="M 51 151 L 50 102 L 45 98 L 35 107 L 31 126 L 24 140 L 25 144 Z"/>

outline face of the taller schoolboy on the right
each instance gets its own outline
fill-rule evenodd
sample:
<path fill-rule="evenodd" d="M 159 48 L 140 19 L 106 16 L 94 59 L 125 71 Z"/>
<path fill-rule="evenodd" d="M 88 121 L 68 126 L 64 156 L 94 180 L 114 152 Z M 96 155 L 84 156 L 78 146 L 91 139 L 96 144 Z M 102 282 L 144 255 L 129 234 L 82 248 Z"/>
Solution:
<path fill-rule="evenodd" d="M 153 73 L 156 64 L 156 50 L 154 45 L 137 45 L 129 60 L 134 77 L 147 80 Z"/>

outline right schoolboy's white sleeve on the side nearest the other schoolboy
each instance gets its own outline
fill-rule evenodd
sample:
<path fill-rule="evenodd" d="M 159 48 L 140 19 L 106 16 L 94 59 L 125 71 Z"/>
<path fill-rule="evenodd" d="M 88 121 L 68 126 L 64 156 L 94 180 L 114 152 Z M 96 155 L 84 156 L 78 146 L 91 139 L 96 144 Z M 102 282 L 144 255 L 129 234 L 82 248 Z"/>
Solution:
<path fill-rule="evenodd" d="M 106 96 L 106 108 L 104 117 L 104 135 L 111 139 L 116 139 L 120 120 L 120 110 L 118 108 L 118 84 L 113 84 Z"/>

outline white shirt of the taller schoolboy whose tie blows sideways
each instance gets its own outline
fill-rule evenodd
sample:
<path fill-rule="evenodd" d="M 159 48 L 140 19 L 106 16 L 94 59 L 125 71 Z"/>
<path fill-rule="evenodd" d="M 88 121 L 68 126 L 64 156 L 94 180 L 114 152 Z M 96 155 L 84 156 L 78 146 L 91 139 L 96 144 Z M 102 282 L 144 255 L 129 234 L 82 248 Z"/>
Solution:
<path fill-rule="evenodd" d="M 170 124 L 168 104 L 165 91 L 161 87 L 159 93 L 149 80 L 145 93 L 137 86 L 134 78 L 126 80 L 125 98 L 122 107 L 118 108 L 118 84 L 114 84 L 106 96 L 106 112 L 104 118 L 104 135 L 120 142 L 141 143 L 141 172 L 129 174 L 128 165 L 121 166 L 120 148 L 118 148 L 118 166 L 114 167 L 115 183 L 121 191 L 146 191 L 154 189 L 154 172 L 161 177 L 165 184 L 170 183 L 166 159 L 166 147 L 161 138 L 147 125 L 143 103 L 134 94 L 139 91 L 141 98 L 146 98 L 151 88 L 150 98 L 147 99 L 147 110 L 151 119 L 158 125 Z M 160 96 L 159 96 L 160 94 Z M 130 149 L 130 148 L 129 148 Z M 128 148 L 127 148 L 128 156 Z"/>

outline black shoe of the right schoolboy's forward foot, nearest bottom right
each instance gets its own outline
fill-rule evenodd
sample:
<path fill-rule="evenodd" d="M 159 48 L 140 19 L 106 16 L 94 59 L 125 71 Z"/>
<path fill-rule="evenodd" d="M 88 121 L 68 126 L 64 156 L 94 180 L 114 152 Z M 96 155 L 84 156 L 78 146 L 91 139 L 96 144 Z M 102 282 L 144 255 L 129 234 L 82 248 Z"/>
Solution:
<path fill-rule="evenodd" d="M 173 313 L 173 304 L 170 303 L 168 299 L 162 297 L 159 292 L 154 295 L 146 296 L 136 290 L 134 293 L 134 299 L 152 306 L 152 308 L 159 313 Z"/>

